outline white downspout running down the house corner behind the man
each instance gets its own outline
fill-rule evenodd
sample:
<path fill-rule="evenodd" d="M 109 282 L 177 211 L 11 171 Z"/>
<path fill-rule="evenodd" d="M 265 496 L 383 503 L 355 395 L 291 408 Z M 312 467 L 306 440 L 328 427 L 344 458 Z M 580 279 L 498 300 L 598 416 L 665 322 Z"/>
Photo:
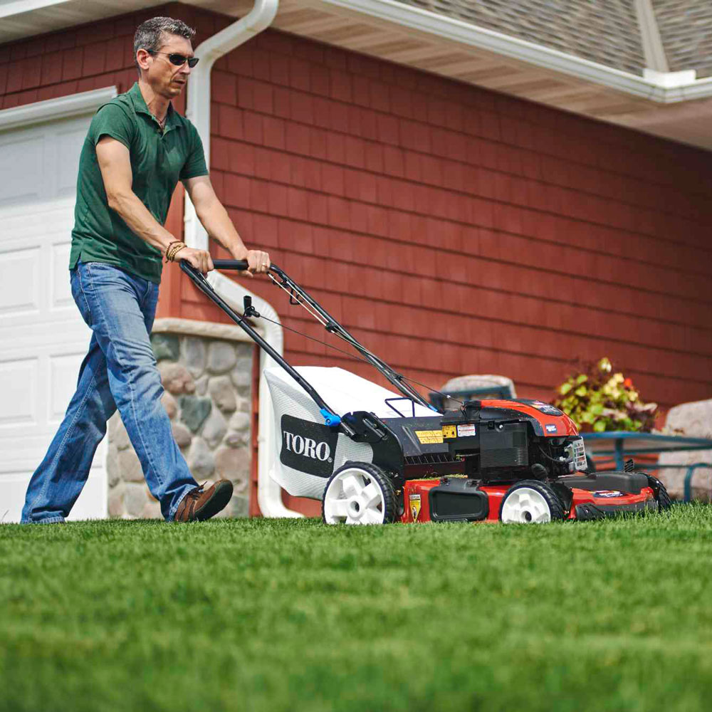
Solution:
<path fill-rule="evenodd" d="M 256 0 L 253 9 L 244 18 L 206 39 L 195 50 L 196 55 L 200 57 L 200 62 L 190 76 L 186 113 L 201 137 L 208 166 L 210 161 L 210 76 L 213 65 L 226 53 L 267 28 L 277 14 L 278 5 L 279 0 Z M 184 221 L 185 243 L 189 247 L 206 250 L 208 236 L 187 195 L 185 196 Z M 271 304 L 217 271 L 209 273 L 208 281 L 233 308 L 241 310 L 244 296 L 250 296 L 259 313 L 277 322 L 277 324 L 266 322 L 264 337 L 278 353 L 283 353 L 283 332 L 279 325 L 279 317 Z M 261 351 L 260 370 L 262 374 L 266 367 L 273 365 L 276 365 L 275 362 Z M 300 513 L 291 511 L 284 506 L 282 489 L 269 474 L 273 467 L 274 452 L 278 443 L 275 442 L 272 402 L 264 375 L 260 378 L 259 402 L 261 413 L 257 433 L 257 500 L 260 510 L 266 517 L 300 517 L 302 516 Z"/>

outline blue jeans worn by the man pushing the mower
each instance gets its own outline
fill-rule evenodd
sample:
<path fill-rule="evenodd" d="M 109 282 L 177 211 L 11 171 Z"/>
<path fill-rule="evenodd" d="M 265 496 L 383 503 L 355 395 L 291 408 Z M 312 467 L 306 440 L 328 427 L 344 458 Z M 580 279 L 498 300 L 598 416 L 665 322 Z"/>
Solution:
<path fill-rule="evenodd" d="M 74 301 L 93 334 L 64 420 L 27 486 L 21 520 L 64 521 L 117 408 L 148 487 L 172 520 L 198 483 L 161 404 L 163 387 L 149 337 L 158 285 L 99 262 L 80 262 L 70 278 Z"/>

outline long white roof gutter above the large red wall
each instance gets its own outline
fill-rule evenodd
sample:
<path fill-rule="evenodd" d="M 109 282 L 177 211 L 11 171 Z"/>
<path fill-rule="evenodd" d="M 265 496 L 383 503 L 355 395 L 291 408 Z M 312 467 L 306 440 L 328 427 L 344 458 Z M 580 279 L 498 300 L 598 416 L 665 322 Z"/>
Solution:
<path fill-rule="evenodd" d="M 696 79 L 693 71 L 646 71 L 641 77 L 394 0 L 320 1 L 660 104 L 712 97 L 712 78 Z"/>

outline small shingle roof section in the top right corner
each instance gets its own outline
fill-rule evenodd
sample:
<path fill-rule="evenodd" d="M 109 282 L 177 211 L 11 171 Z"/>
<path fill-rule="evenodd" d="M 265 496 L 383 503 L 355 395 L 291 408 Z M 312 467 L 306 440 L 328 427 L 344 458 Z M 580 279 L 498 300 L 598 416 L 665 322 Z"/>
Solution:
<path fill-rule="evenodd" d="M 712 2 L 653 0 L 653 6 L 670 71 L 712 76 Z"/>

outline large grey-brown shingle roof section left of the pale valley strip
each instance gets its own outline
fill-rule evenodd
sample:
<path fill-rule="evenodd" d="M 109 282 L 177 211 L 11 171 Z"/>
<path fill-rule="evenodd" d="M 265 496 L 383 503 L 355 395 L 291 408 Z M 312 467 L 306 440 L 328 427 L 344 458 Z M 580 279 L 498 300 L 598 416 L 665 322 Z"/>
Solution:
<path fill-rule="evenodd" d="M 634 74 L 645 66 L 630 0 L 401 1 Z"/>

